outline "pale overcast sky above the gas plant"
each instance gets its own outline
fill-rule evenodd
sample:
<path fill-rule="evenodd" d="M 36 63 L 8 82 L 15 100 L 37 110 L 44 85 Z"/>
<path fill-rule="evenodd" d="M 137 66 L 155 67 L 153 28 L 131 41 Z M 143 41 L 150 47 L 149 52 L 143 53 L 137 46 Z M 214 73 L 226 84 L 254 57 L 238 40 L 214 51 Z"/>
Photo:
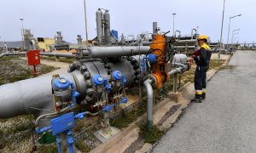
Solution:
<path fill-rule="evenodd" d="M 152 23 L 158 22 L 161 31 L 171 31 L 173 13 L 175 30 L 190 35 L 198 26 L 200 34 L 218 42 L 224 0 L 86 0 L 89 39 L 96 37 L 96 10 L 106 8 L 110 14 L 111 29 L 136 36 L 142 31 L 152 32 Z M 77 35 L 85 39 L 84 0 L 1 0 L 0 42 L 21 40 L 21 22 L 31 29 L 34 37 L 55 37 L 61 31 L 67 42 L 77 42 Z M 226 0 L 223 41 L 227 42 L 230 16 L 230 39 L 233 30 L 238 42 L 255 41 L 255 0 Z M 236 32 L 235 32 L 236 33 Z"/>

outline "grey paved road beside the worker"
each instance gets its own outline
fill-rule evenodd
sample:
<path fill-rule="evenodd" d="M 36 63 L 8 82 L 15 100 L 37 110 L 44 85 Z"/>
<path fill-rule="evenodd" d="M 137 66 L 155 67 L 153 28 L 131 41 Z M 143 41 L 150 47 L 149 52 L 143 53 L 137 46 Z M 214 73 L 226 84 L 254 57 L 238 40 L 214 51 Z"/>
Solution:
<path fill-rule="evenodd" d="M 233 69 L 207 84 L 207 100 L 192 104 L 153 152 L 256 152 L 256 52 L 238 51 Z"/>

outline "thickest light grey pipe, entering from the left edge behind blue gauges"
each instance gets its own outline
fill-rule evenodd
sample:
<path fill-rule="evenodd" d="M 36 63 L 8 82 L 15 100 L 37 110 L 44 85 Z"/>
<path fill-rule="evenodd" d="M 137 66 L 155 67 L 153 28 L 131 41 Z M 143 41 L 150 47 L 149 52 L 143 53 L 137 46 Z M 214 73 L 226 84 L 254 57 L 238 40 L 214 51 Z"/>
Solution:
<path fill-rule="evenodd" d="M 67 77 L 69 81 L 74 82 L 69 73 L 61 77 Z M 0 86 L 0 118 L 11 118 L 29 113 L 37 118 L 48 113 L 31 109 L 31 107 L 55 111 L 51 79 L 51 76 L 36 77 Z"/>

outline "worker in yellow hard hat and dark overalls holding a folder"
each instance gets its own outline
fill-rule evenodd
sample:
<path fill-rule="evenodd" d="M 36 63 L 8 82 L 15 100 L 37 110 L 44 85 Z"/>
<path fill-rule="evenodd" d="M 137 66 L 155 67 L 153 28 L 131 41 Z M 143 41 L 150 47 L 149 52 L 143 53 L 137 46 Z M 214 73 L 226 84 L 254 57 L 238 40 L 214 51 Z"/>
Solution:
<path fill-rule="evenodd" d="M 195 98 L 191 102 L 201 103 L 201 100 L 206 99 L 207 88 L 207 70 L 209 69 L 209 62 L 211 59 L 210 47 L 207 45 L 208 37 L 201 35 L 197 38 L 200 49 L 192 54 L 195 60 Z"/>

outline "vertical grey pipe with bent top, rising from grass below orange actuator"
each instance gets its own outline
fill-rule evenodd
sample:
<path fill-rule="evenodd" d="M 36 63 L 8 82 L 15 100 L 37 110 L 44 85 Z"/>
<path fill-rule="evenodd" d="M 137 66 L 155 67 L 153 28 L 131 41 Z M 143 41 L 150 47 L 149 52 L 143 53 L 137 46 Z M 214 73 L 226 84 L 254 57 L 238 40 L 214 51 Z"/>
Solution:
<path fill-rule="evenodd" d="M 153 95 L 153 88 L 152 88 L 152 80 L 148 79 L 146 80 L 143 85 L 146 88 L 147 91 L 147 128 L 148 130 L 151 130 L 153 127 L 153 101 L 154 101 L 154 95 Z"/>

